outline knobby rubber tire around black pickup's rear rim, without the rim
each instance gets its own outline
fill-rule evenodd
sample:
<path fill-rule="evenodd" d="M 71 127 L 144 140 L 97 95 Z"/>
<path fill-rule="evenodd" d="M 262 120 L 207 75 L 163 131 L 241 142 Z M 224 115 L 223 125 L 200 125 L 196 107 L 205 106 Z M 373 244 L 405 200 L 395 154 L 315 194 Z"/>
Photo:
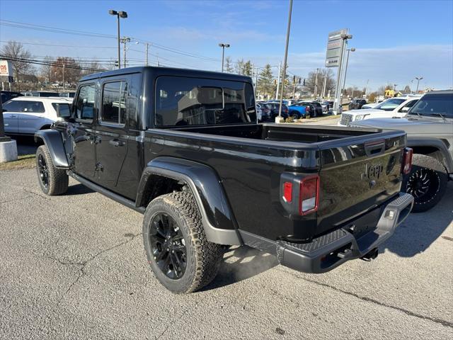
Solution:
<path fill-rule="evenodd" d="M 186 268 L 180 278 L 168 278 L 157 266 L 151 249 L 151 221 L 158 213 L 169 215 L 183 234 Z M 159 282 L 173 293 L 192 293 L 209 284 L 217 275 L 222 248 L 208 242 L 197 203 L 192 193 L 175 192 L 154 198 L 144 214 L 143 242 L 148 263 Z"/>

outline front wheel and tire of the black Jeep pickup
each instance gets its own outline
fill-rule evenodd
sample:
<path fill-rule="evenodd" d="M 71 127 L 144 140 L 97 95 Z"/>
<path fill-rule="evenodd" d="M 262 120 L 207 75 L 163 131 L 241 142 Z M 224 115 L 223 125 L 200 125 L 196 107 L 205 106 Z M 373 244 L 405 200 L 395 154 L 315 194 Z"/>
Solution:
<path fill-rule="evenodd" d="M 64 169 L 57 169 L 52 162 L 49 150 L 41 145 L 36 150 L 36 169 L 43 193 L 54 196 L 66 193 L 69 177 Z"/>

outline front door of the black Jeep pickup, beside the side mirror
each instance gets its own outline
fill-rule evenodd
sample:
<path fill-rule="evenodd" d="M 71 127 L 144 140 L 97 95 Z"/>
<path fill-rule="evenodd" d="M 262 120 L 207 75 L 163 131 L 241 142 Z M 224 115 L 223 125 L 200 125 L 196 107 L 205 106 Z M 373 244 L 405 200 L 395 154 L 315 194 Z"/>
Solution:
<path fill-rule="evenodd" d="M 96 84 L 80 86 L 74 101 L 74 120 L 71 123 L 73 137 L 74 171 L 93 180 L 96 170 L 96 131 L 93 118 L 96 116 Z"/>

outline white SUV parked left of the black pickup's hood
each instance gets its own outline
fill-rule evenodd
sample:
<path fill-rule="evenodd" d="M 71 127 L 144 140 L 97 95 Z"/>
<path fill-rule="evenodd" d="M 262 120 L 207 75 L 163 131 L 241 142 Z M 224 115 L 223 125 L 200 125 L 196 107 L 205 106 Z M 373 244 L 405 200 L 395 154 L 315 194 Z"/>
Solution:
<path fill-rule="evenodd" d="M 68 110 L 72 98 L 16 97 L 3 104 L 3 119 L 7 135 L 34 135 L 50 128 L 58 118 L 57 107 Z"/>

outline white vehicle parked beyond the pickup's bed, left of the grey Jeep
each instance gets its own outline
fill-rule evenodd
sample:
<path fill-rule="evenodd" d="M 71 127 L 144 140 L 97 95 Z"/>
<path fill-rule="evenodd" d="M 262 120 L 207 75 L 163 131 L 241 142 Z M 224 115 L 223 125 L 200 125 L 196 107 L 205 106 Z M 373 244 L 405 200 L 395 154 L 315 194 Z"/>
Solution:
<path fill-rule="evenodd" d="M 372 118 L 403 118 L 407 115 L 409 108 L 418 102 L 421 96 L 400 96 L 389 98 L 374 108 L 362 108 L 359 110 L 345 111 L 341 114 L 338 125 L 348 126 L 357 120 Z"/>

